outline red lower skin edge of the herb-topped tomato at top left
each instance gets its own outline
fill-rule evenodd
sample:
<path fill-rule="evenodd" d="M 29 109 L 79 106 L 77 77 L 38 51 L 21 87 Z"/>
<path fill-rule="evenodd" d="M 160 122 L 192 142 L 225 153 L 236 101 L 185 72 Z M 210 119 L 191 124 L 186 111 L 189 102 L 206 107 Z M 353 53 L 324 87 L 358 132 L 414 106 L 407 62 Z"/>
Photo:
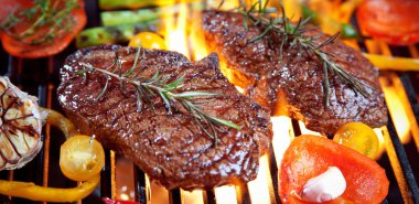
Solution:
<path fill-rule="evenodd" d="M 79 8 L 74 9 L 68 18 L 73 18 L 75 22 L 71 32 L 58 34 L 52 42 L 32 45 L 4 33 L 2 45 L 9 54 L 19 57 L 37 58 L 56 54 L 67 47 L 75 35 L 86 25 L 87 18 L 83 0 L 79 1 Z"/>

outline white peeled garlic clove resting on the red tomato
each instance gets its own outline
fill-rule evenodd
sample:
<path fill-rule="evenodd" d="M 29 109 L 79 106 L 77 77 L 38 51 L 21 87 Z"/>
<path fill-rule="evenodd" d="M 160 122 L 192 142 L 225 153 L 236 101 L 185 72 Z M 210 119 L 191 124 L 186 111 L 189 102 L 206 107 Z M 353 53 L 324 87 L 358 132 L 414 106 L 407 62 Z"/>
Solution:
<path fill-rule="evenodd" d="M 302 189 L 301 200 L 323 203 L 341 196 L 346 189 L 346 181 L 341 170 L 331 167 L 324 173 L 310 179 Z"/>

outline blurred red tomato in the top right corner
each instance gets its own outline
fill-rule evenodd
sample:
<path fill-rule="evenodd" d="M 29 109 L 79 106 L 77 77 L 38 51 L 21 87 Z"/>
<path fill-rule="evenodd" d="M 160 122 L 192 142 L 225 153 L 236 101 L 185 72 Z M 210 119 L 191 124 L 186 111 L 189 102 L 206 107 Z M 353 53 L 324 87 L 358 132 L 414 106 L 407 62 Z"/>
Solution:
<path fill-rule="evenodd" d="M 418 0 L 364 0 L 357 9 L 362 30 L 393 45 L 419 42 Z"/>

